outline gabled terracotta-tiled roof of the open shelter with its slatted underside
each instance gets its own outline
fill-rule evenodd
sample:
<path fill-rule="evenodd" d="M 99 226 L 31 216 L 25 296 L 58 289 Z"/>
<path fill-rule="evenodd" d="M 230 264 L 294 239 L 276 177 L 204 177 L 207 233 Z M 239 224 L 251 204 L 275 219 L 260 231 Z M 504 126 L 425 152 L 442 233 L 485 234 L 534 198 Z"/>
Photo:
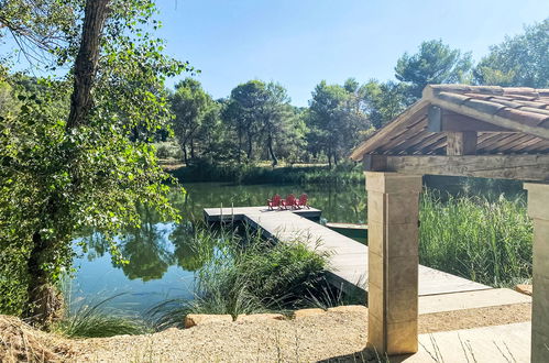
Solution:
<path fill-rule="evenodd" d="M 480 154 L 549 154 L 549 89 L 429 85 L 418 102 L 372 134 L 351 157 L 443 153 L 446 133 L 427 131 L 431 106 L 503 128 L 502 132 L 479 132 Z"/>

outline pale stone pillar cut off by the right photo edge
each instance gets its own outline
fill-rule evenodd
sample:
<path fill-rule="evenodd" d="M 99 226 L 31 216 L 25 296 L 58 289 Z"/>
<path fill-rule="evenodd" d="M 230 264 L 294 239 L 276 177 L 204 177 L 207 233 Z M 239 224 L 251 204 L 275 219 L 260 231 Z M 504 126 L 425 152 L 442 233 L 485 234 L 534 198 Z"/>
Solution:
<path fill-rule="evenodd" d="M 534 219 L 531 362 L 549 362 L 549 185 L 525 184 Z"/>

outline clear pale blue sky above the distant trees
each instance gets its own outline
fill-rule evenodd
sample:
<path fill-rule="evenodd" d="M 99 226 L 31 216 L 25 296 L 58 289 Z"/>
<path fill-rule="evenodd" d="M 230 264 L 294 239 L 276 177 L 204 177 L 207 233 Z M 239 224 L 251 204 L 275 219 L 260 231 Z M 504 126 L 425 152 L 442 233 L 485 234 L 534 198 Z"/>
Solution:
<path fill-rule="evenodd" d="M 321 79 L 393 78 L 396 59 L 422 41 L 442 38 L 477 61 L 506 34 L 549 16 L 547 0 L 157 2 L 166 52 L 200 69 L 215 98 L 257 78 L 281 82 L 296 106 Z"/>

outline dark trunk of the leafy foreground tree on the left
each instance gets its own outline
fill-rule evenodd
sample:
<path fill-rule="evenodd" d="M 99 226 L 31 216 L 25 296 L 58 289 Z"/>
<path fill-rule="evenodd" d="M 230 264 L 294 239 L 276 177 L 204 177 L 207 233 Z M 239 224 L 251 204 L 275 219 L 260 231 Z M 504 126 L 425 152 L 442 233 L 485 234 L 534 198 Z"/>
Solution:
<path fill-rule="evenodd" d="M 67 118 L 66 132 L 84 124 L 92 106 L 91 89 L 94 87 L 101 32 L 107 18 L 109 0 L 87 0 L 80 47 L 75 59 L 74 86 L 70 96 L 70 111 Z M 77 157 L 76 152 L 66 156 L 66 165 L 70 165 Z M 70 170 L 70 167 L 68 167 Z M 74 184 L 77 177 L 73 176 Z M 63 298 L 53 283 L 53 276 L 47 267 L 55 264 L 55 250 L 58 243 L 67 243 L 65 237 L 45 239 L 41 231 L 55 221 L 59 211 L 61 196 L 51 195 L 47 208 L 44 211 L 44 226 L 33 233 L 33 248 L 28 261 L 30 283 L 28 287 L 29 302 L 24 316 L 35 324 L 46 327 L 58 317 Z"/>

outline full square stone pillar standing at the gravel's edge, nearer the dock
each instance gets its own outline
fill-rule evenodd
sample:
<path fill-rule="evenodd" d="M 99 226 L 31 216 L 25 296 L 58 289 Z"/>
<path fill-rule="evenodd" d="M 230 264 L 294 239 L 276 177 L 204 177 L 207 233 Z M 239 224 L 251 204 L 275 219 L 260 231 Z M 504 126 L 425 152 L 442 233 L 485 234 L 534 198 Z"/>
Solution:
<path fill-rule="evenodd" d="M 418 349 L 418 219 L 421 176 L 366 172 L 367 341 L 378 352 Z"/>

